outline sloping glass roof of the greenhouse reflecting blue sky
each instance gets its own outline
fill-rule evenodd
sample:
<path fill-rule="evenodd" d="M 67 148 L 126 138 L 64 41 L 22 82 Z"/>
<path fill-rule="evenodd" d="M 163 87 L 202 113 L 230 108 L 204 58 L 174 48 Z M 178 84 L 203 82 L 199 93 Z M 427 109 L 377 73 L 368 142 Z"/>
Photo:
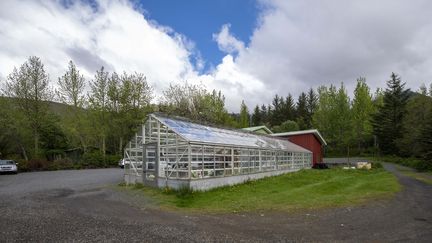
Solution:
<path fill-rule="evenodd" d="M 303 147 L 278 138 L 244 132 L 241 130 L 230 130 L 201 125 L 159 114 L 152 114 L 151 116 L 189 142 L 263 149 L 282 149 L 290 152 L 310 152 Z"/>

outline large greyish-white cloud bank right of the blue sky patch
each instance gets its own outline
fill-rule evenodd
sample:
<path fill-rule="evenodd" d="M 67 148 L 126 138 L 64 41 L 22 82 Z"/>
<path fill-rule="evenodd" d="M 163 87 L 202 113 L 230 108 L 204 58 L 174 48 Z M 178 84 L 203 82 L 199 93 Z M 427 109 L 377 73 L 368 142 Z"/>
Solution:
<path fill-rule="evenodd" d="M 385 86 L 396 72 L 417 89 L 432 77 L 432 2 L 261 1 L 259 26 L 236 64 L 267 87 L 298 95 L 366 76 Z"/>

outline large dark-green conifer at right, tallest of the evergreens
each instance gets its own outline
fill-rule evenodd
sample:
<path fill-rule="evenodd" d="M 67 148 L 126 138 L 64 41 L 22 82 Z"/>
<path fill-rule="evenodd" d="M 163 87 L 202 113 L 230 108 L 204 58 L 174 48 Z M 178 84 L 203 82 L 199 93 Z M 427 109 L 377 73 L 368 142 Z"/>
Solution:
<path fill-rule="evenodd" d="M 399 154 L 397 142 L 403 134 L 403 118 L 406 112 L 409 89 L 405 89 L 400 77 L 391 74 L 384 92 L 383 106 L 373 117 L 373 130 L 379 148 L 384 154 Z"/>

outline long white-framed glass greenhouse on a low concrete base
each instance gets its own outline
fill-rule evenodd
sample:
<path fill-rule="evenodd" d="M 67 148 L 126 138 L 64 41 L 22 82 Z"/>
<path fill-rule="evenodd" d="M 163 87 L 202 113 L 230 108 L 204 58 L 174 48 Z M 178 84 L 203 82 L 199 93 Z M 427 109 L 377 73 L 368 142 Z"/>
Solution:
<path fill-rule="evenodd" d="M 126 183 L 207 190 L 311 168 L 289 141 L 150 114 L 125 148 Z"/>

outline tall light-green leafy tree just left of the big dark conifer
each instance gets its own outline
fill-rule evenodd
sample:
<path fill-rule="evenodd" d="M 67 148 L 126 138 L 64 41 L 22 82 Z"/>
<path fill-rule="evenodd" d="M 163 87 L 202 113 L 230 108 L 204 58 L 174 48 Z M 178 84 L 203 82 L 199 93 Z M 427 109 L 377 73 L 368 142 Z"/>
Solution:
<path fill-rule="evenodd" d="M 357 79 L 352 104 L 352 126 L 359 151 L 364 149 L 366 141 L 372 138 L 371 119 L 374 110 L 369 86 L 366 84 L 366 79 L 360 77 Z"/>

